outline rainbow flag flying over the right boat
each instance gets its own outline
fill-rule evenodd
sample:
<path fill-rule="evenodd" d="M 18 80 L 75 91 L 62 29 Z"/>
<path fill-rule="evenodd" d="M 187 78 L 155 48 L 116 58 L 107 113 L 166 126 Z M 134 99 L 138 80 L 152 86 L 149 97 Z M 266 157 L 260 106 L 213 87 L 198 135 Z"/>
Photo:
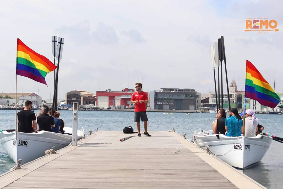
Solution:
<path fill-rule="evenodd" d="M 246 61 L 245 96 L 271 108 L 275 108 L 280 102 L 280 97 L 248 60 Z"/>

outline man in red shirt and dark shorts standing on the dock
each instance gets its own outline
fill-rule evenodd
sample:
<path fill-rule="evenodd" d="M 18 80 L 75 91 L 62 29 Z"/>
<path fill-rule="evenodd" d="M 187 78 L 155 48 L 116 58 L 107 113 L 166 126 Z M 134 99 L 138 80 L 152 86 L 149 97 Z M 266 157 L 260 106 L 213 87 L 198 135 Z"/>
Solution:
<path fill-rule="evenodd" d="M 148 103 L 148 97 L 147 94 L 143 91 L 141 91 L 142 84 L 136 83 L 135 88 L 137 92 L 134 92 L 134 94 L 131 97 L 131 103 L 135 103 L 135 117 L 134 122 L 137 122 L 137 129 L 138 129 L 138 137 L 141 136 L 140 133 L 140 120 L 143 122 L 144 132 L 143 134 L 146 136 L 151 137 L 150 134 L 147 132 L 147 115 L 146 115 L 146 104 Z"/>

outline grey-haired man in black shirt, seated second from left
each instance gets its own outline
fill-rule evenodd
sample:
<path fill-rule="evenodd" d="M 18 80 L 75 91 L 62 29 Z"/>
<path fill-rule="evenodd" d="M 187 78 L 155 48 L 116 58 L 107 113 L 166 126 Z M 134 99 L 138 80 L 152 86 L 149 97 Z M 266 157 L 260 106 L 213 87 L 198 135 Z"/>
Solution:
<path fill-rule="evenodd" d="M 46 105 L 41 107 L 42 115 L 37 117 L 39 131 L 51 131 L 51 127 L 55 127 L 54 118 L 48 115 L 49 108 Z"/>

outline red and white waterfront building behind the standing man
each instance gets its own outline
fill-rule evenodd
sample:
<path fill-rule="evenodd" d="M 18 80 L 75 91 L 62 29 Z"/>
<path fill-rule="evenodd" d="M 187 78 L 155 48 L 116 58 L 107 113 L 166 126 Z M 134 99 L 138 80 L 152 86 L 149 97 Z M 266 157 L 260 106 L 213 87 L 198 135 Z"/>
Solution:
<path fill-rule="evenodd" d="M 116 106 L 128 106 L 134 89 L 125 88 L 122 91 L 111 91 L 110 89 L 106 91 L 97 91 L 97 106 L 98 107 L 116 107 Z M 145 92 L 147 94 L 147 92 Z M 121 107 L 121 108 L 122 108 Z"/>

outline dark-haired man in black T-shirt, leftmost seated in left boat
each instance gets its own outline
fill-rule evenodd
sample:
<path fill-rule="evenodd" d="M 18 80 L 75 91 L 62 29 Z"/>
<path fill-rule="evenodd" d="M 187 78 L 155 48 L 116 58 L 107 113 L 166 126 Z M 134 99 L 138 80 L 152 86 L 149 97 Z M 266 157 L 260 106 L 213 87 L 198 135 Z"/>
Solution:
<path fill-rule="evenodd" d="M 25 101 L 25 108 L 18 112 L 18 131 L 23 133 L 32 133 L 36 130 L 35 113 L 31 109 L 33 103 L 29 100 Z"/>

